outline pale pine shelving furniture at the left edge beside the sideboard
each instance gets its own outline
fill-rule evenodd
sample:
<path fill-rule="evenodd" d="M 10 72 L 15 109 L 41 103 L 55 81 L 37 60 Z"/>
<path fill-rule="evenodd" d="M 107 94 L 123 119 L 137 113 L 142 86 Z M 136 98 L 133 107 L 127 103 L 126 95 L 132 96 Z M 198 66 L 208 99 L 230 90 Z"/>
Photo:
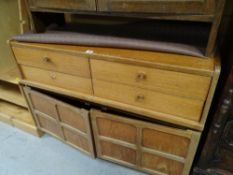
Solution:
<path fill-rule="evenodd" d="M 18 86 L 20 71 L 8 40 L 30 30 L 24 1 L 0 2 L 0 121 L 39 136 L 35 122 Z"/>

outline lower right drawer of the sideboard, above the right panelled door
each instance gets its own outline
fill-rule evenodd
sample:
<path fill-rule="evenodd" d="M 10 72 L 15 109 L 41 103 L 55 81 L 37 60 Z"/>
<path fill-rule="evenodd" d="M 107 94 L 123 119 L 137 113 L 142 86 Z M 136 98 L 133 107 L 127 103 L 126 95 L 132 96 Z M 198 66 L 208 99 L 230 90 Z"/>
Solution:
<path fill-rule="evenodd" d="M 204 101 L 166 95 L 133 86 L 93 80 L 95 96 L 199 121 Z"/>

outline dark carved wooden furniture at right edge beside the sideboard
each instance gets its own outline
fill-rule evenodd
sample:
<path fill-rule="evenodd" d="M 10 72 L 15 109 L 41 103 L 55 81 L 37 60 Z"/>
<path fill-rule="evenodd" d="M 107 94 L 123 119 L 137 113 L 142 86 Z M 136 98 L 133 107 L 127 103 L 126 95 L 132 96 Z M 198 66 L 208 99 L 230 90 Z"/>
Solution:
<path fill-rule="evenodd" d="M 224 86 L 193 175 L 233 174 L 233 69 Z"/>

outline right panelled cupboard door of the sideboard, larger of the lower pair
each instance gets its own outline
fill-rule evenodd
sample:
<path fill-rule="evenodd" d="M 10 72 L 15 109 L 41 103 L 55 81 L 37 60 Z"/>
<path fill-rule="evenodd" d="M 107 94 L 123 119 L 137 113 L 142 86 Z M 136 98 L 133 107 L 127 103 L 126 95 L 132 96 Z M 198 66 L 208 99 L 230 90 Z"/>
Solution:
<path fill-rule="evenodd" d="M 188 175 L 200 133 L 91 111 L 97 156 L 150 174 Z"/>

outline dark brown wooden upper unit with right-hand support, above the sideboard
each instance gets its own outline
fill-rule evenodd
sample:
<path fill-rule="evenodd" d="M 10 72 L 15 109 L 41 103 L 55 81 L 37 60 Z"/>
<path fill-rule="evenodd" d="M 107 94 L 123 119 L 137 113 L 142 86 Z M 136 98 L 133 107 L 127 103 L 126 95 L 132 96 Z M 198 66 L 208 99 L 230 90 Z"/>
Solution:
<path fill-rule="evenodd" d="M 34 12 L 69 12 L 72 14 L 107 15 L 121 17 L 169 19 L 205 22 L 211 27 L 205 55 L 213 57 L 225 0 L 27 0 L 32 19 Z"/>

